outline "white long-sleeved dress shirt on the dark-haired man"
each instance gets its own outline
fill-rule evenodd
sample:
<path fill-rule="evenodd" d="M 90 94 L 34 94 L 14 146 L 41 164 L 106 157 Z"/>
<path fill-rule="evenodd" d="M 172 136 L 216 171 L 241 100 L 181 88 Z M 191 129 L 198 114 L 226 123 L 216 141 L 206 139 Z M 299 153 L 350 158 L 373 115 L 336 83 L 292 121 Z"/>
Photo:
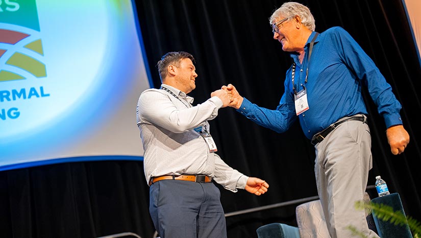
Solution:
<path fill-rule="evenodd" d="M 208 145 L 197 127 L 206 127 L 218 115 L 222 101 L 212 97 L 192 106 L 193 98 L 166 84 L 163 89 L 147 89 L 137 104 L 137 126 L 143 143 L 146 182 L 162 175 L 202 174 L 230 191 L 244 188 L 249 177 L 228 166 Z"/>

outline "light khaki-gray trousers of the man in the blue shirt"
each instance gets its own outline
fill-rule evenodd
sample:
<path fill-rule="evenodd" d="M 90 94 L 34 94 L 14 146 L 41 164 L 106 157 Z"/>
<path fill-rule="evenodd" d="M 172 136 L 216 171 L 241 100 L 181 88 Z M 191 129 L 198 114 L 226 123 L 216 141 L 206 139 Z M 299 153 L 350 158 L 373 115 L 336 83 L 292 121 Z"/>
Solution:
<path fill-rule="evenodd" d="M 352 237 L 348 226 L 367 237 L 379 237 L 368 229 L 364 210 L 355 208 L 355 202 L 363 200 L 368 171 L 373 166 L 368 125 L 344 122 L 315 149 L 317 191 L 331 237 Z"/>

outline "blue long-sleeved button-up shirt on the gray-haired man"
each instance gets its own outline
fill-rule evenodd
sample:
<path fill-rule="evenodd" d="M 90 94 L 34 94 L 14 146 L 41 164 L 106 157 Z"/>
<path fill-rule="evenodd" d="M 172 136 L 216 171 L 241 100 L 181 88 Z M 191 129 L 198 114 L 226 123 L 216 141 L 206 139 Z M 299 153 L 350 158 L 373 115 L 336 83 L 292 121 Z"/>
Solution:
<path fill-rule="evenodd" d="M 361 94 L 364 85 L 383 116 L 386 127 L 401 125 L 401 104 L 373 60 L 351 35 L 340 27 L 319 34 L 309 61 L 309 44 L 315 34 L 313 32 L 307 40 L 302 63 L 298 53 L 290 53 L 296 65 L 295 89 L 302 90 L 302 85 L 307 89 L 307 111 L 296 115 L 292 66 L 286 73 L 285 92 L 276 110 L 259 107 L 244 98 L 237 111 L 258 125 L 279 133 L 286 131 L 298 117 L 304 134 L 311 139 L 342 117 L 367 114 Z M 307 66 L 308 81 L 305 83 Z"/>

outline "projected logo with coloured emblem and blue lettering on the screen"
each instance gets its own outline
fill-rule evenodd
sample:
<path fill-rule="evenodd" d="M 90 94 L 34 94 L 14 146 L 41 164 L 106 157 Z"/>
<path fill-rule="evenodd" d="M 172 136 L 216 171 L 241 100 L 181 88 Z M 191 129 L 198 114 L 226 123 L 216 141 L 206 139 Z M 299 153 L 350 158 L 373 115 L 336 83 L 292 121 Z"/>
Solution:
<path fill-rule="evenodd" d="M 0 88 L 6 88 L 8 81 L 46 77 L 39 31 L 35 0 L 0 0 Z M 0 103 L 48 97 L 43 90 L 42 86 L 0 90 Z M 20 114 L 16 104 L 0 108 L 2 121 Z"/>

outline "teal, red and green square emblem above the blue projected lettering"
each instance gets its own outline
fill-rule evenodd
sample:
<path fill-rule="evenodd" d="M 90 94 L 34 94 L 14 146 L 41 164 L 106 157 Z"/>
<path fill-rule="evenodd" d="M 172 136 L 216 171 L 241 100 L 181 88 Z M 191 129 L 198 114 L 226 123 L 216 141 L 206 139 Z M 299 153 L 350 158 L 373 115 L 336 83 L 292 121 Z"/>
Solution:
<path fill-rule="evenodd" d="M 35 0 L 0 1 L 0 22 L 21 26 L 24 30 L 0 29 L 0 43 L 3 43 L 0 47 L 0 60 L 3 62 L 0 82 L 27 79 L 28 76 L 21 74 L 21 70 L 36 78 L 46 77 L 42 41 L 31 34 L 32 30 L 39 32 Z"/>

